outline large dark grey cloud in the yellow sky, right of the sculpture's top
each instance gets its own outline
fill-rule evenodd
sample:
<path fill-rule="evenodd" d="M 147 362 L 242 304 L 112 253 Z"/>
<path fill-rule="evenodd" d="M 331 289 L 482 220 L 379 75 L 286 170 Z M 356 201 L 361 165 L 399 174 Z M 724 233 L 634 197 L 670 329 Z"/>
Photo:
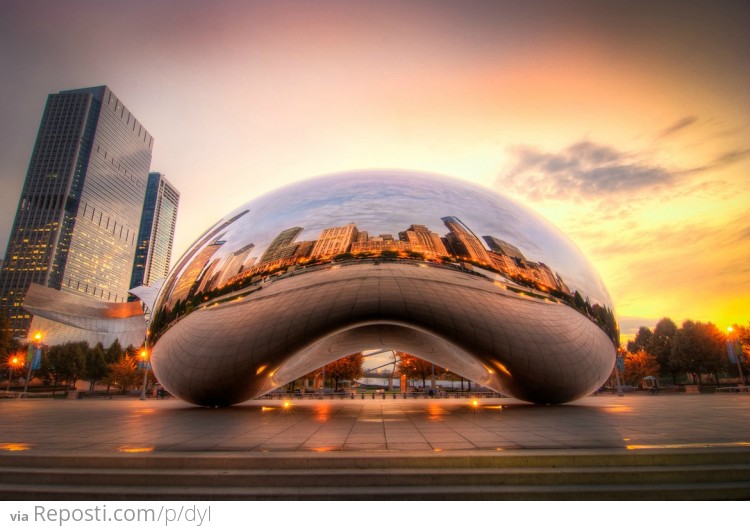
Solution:
<path fill-rule="evenodd" d="M 671 185 L 678 173 L 590 141 L 558 153 L 511 148 L 515 163 L 496 184 L 533 200 L 606 197 Z"/>

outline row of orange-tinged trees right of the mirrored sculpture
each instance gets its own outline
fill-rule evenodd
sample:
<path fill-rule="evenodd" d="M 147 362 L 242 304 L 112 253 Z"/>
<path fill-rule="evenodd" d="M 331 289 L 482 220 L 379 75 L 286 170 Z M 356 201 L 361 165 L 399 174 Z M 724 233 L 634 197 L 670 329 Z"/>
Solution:
<path fill-rule="evenodd" d="M 711 322 L 685 320 L 678 327 L 666 317 L 659 320 L 654 329 L 641 326 L 622 350 L 625 382 L 635 385 L 644 377 L 669 375 L 673 384 L 687 376 L 692 383 L 700 385 L 704 375 L 708 375 L 718 385 L 720 373 L 738 376 L 740 369 L 747 378 L 750 329 L 740 325 L 732 329 L 731 336 L 727 337 Z M 739 365 L 729 361 L 728 339 L 734 343 Z"/>

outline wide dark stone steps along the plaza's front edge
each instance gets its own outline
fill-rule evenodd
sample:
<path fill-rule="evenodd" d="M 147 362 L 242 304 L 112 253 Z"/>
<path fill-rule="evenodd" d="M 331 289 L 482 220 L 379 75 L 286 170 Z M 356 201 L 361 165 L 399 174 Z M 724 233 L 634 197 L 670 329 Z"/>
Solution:
<path fill-rule="evenodd" d="M 6 500 L 741 500 L 750 448 L 0 452 Z"/>

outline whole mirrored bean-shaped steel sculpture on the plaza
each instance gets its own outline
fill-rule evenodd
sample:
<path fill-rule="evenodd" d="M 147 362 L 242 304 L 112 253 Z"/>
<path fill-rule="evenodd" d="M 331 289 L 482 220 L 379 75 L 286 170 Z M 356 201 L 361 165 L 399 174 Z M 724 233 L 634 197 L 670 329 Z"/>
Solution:
<path fill-rule="evenodd" d="M 197 405 L 258 397 L 393 349 L 534 403 L 609 376 L 612 301 L 550 223 L 490 190 L 412 172 L 322 176 L 208 229 L 161 288 L 154 371 Z"/>

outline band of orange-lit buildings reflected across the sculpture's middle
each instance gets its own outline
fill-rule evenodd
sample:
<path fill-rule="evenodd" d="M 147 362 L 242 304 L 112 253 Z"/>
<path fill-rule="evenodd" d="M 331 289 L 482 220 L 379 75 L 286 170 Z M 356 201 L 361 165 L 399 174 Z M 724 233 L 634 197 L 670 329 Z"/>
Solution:
<path fill-rule="evenodd" d="M 354 222 L 323 228 L 314 240 L 296 241 L 304 228 L 294 226 L 280 231 L 260 257 L 249 257 L 256 249 L 249 243 L 227 257 L 211 258 L 224 241 L 219 235 L 197 252 L 185 267 L 169 294 L 168 308 L 193 295 L 223 289 L 253 278 L 283 273 L 289 268 L 316 265 L 346 258 L 387 257 L 478 266 L 500 273 L 519 285 L 571 295 L 559 273 L 544 262 L 529 261 L 515 245 L 496 236 L 474 234 L 456 216 L 441 221 L 448 232 L 440 235 L 422 224 L 411 224 L 396 235 L 370 234 Z M 226 227 L 226 224 L 222 225 Z M 220 229 L 213 229 L 212 234 Z M 486 244 L 482 243 L 482 239 Z"/>

